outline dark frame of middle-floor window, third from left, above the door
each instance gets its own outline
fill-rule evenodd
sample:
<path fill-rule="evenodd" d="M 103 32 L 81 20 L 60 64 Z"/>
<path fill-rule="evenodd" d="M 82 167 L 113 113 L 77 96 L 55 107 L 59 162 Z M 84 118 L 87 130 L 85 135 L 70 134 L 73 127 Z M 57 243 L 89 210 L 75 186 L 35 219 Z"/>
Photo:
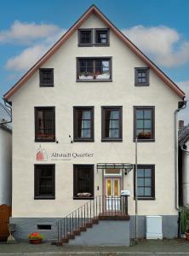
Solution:
<path fill-rule="evenodd" d="M 106 110 L 119 110 L 119 137 L 105 137 L 105 112 Z M 101 107 L 101 142 L 123 142 L 123 107 L 102 106 Z"/>

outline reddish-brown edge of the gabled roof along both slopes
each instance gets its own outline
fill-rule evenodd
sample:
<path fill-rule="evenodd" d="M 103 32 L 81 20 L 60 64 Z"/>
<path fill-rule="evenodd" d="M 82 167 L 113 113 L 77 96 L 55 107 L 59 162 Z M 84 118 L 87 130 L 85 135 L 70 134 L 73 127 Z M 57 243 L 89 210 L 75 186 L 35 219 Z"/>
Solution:
<path fill-rule="evenodd" d="M 4 99 L 9 101 L 9 98 L 14 95 L 14 93 L 20 89 L 20 87 L 26 83 L 28 79 L 31 78 L 31 75 L 37 71 L 38 68 L 42 67 L 43 63 L 45 61 L 48 61 L 50 56 L 54 54 L 54 52 L 60 48 L 62 44 L 66 42 L 68 38 L 70 38 L 80 26 L 82 26 L 83 22 L 89 18 L 90 15 L 95 14 L 97 17 L 102 20 L 106 26 L 108 26 L 112 32 L 117 36 L 117 38 L 120 38 L 124 44 L 131 49 L 135 55 L 137 55 L 141 61 L 144 61 L 146 63 L 146 66 L 152 68 L 152 70 L 157 73 L 158 77 L 163 80 L 165 84 L 169 86 L 171 90 L 174 90 L 175 93 L 180 96 L 180 98 L 183 98 L 185 96 L 185 93 L 180 90 L 180 88 L 171 80 L 163 71 L 161 71 L 152 61 L 150 61 L 146 55 L 144 55 L 140 49 L 138 49 L 135 44 L 133 44 L 128 38 L 126 38 L 122 32 L 120 32 L 116 26 L 112 24 L 110 20 L 106 18 L 105 15 L 103 15 L 100 12 L 100 9 L 97 9 L 94 5 L 92 5 L 77 22 L 60 38 L 60 40 L 54 44 L 54 46 L 49 49 L 49 51 L 43 55 L 43 57 L 37 61 L 37 63 L 31 67 L 31 69 L 16 83 L 14 86 L 4 95 Z"/>

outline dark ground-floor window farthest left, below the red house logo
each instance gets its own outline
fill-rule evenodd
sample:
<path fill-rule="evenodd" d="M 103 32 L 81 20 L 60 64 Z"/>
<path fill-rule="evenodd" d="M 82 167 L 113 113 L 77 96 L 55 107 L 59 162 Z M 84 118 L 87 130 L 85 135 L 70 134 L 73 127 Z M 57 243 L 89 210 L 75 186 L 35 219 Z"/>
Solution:
<path fill-rule="evenodd" d="M 55 198 L 55 166 L 35 165 L 34 199 Z"/>

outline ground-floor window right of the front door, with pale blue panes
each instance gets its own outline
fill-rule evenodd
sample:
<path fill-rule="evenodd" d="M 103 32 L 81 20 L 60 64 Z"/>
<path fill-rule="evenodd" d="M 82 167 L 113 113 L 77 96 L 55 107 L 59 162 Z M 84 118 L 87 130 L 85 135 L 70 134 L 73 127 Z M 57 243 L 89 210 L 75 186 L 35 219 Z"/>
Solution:
<path fill-rule="evenodd" d="M 135 183 L 135 179 L 134 179 Z M 138 199 L 155 199 L 155 166 L 139 165 L 137 169 Z"/>

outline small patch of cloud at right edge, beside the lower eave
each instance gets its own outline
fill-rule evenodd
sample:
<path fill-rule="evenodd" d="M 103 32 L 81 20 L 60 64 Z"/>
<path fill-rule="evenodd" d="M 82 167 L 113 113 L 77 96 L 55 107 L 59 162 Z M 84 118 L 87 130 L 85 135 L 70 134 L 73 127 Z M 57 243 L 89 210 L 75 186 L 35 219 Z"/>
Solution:
<path fill-rule="evenodd" d="M 178 86 L 186 93 L 186 101 L 189 101 L 189 80 L 178 82 Z M 185 121 L 185 125 L 189 124 L 189 102 L 184 110 L 179 113 L 179 119 Z"/>

